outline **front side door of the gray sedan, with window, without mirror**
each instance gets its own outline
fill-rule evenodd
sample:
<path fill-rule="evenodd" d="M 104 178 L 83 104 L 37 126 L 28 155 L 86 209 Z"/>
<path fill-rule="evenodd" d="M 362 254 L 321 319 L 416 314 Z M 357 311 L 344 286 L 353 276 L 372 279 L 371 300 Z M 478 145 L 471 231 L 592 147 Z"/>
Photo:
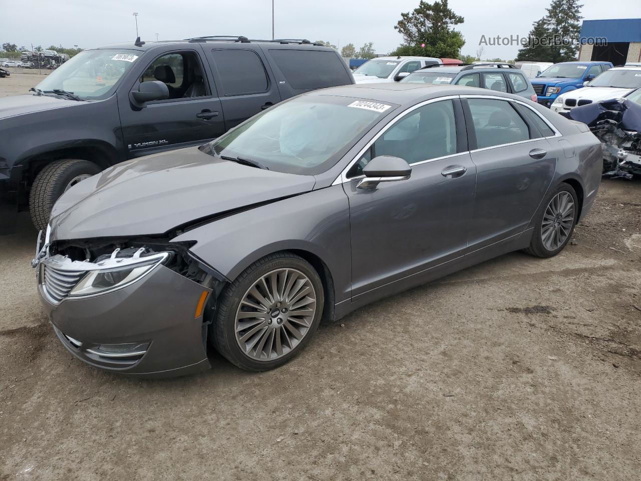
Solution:
<path fill-rule="evenodd" d="M 413 108 L 386 129 L 347 173 L 354 181 L 343 184 L 349 198 L 353 298 L 456 258 L 467 247 L 476 169 L 458 99 Z M 404 158 L 412 176 L 357 189 L 363 167 L 379 155 Z"/>

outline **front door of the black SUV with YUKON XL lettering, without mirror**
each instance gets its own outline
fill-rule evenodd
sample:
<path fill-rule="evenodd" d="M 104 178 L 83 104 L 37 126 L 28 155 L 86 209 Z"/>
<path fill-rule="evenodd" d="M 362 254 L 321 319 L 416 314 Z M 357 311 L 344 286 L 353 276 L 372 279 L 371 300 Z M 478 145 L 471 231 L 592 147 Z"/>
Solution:
<path fill-rule="evenodd" d="M 224 133 L 221 101 L 208 81 L 199 47 L 158 53 L 140 64 L 142 71 L 131 88 L 118 95 L 128 158 L 199 144 Z M 129 92 L 147 80 L 165 83 L 169 99 L 138 108 L 129 101 Z"/>

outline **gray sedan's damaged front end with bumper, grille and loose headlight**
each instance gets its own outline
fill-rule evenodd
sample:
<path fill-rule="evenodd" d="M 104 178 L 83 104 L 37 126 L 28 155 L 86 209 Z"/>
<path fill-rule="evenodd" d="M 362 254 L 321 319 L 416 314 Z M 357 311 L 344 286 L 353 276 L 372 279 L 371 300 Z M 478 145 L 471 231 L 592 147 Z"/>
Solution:
<path fill-rule="evenodd" d="M 206 333 L 224 278 L 189 243 L 154 237 L 51 241 L 33 261 L 65 348 L 96 367 L 172 376 L 209 367 Z"/>

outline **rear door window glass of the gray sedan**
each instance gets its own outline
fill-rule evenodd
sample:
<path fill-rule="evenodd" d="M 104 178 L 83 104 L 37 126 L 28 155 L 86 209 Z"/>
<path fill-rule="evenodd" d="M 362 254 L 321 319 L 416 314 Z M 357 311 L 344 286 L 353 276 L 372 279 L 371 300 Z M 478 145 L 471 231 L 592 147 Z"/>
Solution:
<path fill-rule="evenodd" d="M 510 102 L 495 99 L 468 99 L 476 131 L 477 148 L 528 140 L 528 124 Z"/>

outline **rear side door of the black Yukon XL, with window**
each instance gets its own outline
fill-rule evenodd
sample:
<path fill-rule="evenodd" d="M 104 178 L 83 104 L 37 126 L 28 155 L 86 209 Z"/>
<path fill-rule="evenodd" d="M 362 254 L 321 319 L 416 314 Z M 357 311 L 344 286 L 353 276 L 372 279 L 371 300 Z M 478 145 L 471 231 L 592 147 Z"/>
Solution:
<path fill-rule="evenodd" d="M 281 101 L 260 47 L 205 44 L 204 48 L 219 90 L 226 130 Z"/>

